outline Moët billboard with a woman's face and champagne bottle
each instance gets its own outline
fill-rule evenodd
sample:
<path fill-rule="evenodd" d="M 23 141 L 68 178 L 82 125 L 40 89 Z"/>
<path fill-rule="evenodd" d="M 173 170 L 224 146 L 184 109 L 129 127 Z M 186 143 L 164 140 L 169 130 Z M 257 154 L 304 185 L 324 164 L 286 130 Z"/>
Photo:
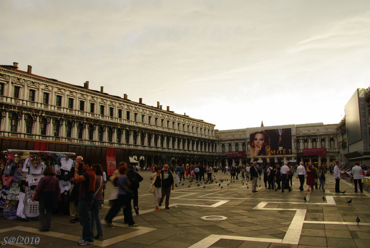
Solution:
<path fill-rule="evenodd" d="M 292 155 L 292 129 L 250 130 L 250 156 Z"/>

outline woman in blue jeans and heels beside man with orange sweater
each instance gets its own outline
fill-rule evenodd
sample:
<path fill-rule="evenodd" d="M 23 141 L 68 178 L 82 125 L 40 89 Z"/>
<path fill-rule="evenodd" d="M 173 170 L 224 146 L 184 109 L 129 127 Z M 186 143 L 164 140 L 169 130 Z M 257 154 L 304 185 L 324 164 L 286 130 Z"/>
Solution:
<path fill-rule="evenodd" d="M 102 238 L 103 237 L 103 228 L 101 226 L 100 216 L 99 216 L 99 209 L 101 204 L 104 202 L 104 195 L 103 195 L 103 186 L 104 186 L 104 179 L 103 179 L 103 168 L 100 164 L 94 164 L 91 166 L 95 168 L 95 192 L 94 192 L 94 201 L 92 202 L 92 208 L 90 212 L 90 219 L 91 219 L 91 232 L 94 221 L 96 223 L 96 231 L 97 235 L 94 238 Z"/>

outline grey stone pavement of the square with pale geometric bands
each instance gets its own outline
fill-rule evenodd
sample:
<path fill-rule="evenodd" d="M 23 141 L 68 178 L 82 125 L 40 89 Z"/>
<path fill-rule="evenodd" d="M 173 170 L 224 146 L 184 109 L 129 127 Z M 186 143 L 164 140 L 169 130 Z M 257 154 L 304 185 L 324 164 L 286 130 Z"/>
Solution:
<path fill-rule="evenodd" d="M 351 183 L 344 180 L 340 189 L 346 190 L 346 194 L 337 194 L 331 175 L 327 175 L 325 193 L 299 191 L 299 180 L 295 176 L 292 192 L 265 189 L 262 180 L 258 181 L 259 192 L 252 193 L 250 181 L 230 182 L 229 175 L 218 172 L 213 173 L 218 183 L 219 179 L 229 179 L 221 184 L 222 189 L 216 183 L 204 184 L 203 181 L 201 186 L 194 181 L 188 187 L 189 182 L 185 180 L 184 185 L 177 183 L 178 187 L 171 192 L 171 209 L 162 206 L 156 210 L 154 196 L 148 193 L 152 173 L 139 173 L 144 178 L 139 188 L 140 213 L 133 213 L 139 226 L 130 228 L 124 224 L 121 211 L 113 227 L 103 225 L 103 238 L 87 247 L 370 247 L 370 194 L 354 193 Z M 111 188 L 108 183 L 106 199 Z M 346 203 L 349 199 L 352 199 L 351 205 Z M 100 211 L 102 220 L 108 210 L 106 200 Z M 360 225 L 355 221 L 357 216 L 361 219 Z M 79 222 L 70 224 L 68 217 L 53 215 L 50 232 L 38 231 L 38 221 L 1 217 L 0 240 L 20 236 L 20 243 L 21 237 L 28 237 L 30 241 L 34 237 L 33 244 L 29 241 L 4 247 L 78 247 L 82 227 Z M 38 244 L 34 244 L 36 237 Z"/>

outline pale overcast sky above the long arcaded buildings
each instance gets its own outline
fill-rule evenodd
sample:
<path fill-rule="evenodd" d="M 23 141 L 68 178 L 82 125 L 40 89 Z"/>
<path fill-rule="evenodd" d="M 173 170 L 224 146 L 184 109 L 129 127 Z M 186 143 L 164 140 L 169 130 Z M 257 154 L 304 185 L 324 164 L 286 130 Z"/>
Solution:
<path fill-rule="evenodd" d="M 216 129 L 338 123 L 370 85 L 370 1 L 0 1 L 0 64 Z"/>

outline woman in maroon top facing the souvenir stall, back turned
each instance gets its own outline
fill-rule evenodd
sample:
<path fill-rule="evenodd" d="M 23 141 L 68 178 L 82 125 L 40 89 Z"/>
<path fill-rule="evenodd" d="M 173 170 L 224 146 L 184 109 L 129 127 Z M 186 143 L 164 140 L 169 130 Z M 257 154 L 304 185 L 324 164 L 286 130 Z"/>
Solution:
<path fill-rule="evenodd" d="M 59 180 L 54 177 L 55 172 L 51 166 L 44 169 L 44 176 L 37 185 L 32 201 L 38 201 L 40 213 L 40 231 L 48 232 L 51 227 L 51 214 L 58 208 L 60 197 Z"/>

